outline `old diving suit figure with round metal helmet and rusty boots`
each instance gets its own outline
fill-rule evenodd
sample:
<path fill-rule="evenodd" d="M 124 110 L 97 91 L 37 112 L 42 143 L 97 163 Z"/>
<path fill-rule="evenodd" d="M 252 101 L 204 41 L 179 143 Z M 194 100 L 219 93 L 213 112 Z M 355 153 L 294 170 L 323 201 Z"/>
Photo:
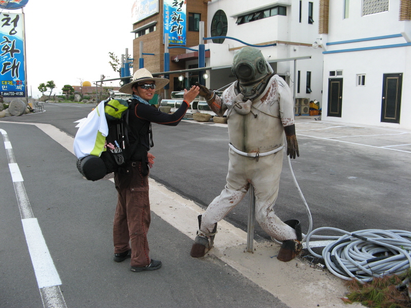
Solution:
<path fill-rule="evenodd" d="M 257 48 L 240 49 L 234 55 L 232 71 L 237 81 L 221 98 L 197 84 L 200 95 L 217 115 L 222 117 L 227 110 L 230 162 L 225 189 L 198 217 L 199 230 L 191 256 L 202 257 L 213 246 L 217 222 L 244 198 L 251 183 L 255 188 L 256 220 L 272 238 L 283 241 L 277 258 L 290 261 L 302 248 L 300 222 L 282 222 L 273 206 L 283 165 L 284 132 L 287 155 L 293 159 L 300 156 L 292 94 Z"/>

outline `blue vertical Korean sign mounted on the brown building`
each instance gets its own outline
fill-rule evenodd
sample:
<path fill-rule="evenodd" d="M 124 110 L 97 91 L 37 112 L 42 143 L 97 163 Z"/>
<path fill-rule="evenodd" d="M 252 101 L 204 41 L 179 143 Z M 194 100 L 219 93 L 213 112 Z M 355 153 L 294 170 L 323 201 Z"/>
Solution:
<path fill-rule="evenodd" d="M 185 0 L 164 0 L 164 34 L 169 33 L 170 45 L 185 45 Z M 164 41 L 164 37 L 163 37 Z"/>

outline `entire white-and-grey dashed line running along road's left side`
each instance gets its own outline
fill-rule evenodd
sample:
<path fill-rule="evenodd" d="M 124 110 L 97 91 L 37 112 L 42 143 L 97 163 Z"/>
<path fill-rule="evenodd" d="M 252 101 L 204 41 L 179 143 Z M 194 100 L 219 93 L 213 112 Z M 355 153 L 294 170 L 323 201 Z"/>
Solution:
<path fill-rule="evenodd" d="M 30 253 L 31 263 L 42 296 L 44 308 L 67 308 L 60 290 L 60 276 L 55 269 L 53 260 L 47 248 L 42 231 L 34 218 L 30 201 L 23 184 L 23 176 L 15 163 L 13 149 L 5 130 L 0 129 L 6 146 L 9 169 L 17 198 L 18 208 L 22 217 L 22 225 Z"/>

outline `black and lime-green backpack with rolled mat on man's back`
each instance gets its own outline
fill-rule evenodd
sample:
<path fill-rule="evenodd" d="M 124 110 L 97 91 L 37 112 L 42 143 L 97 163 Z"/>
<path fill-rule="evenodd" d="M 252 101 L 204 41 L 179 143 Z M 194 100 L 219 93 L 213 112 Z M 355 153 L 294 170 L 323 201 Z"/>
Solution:
<path fill-rule="evenodd" d="M 83 158 L 78 157 L 79 160 L 77 161 L 77 168 L 80 173 L 87 180 L 97 181 L 104 178 L 105 175 L 110 174 L 111 172 L 116 172 L 119 168 L 125 167 L 130 161 L 130 158 L 133 155 L 136 156 L 137 154 L 140 158 L 139 160 L 144 162 L 142 164 L 143 175 L 148 175 L 147 151 L 139 142 L 141 133 L 146 133 L 147 130 L 141 129 L 136 136 L 136 134 L 130 130 L 128 126 L 129 109 L 132 109 L 135 106 L 133 101 L 131 99 L 126 101 L 108 98 L 100 104 L 104 105 L 105 119 L 100 119 L 100 121 L 104 122 L 104 120 L 106 120 L 107 122 L 107 136 L 104 137 L 102 133 L 97 132 L 97 138 L 93 150 L 90 151 L 89 155 L 86 155 Z M 103 106 L 99 107 L 100 108 L 95 109 L 97 110 L 96 112 L 99 112 L 98 110 L 102 110 Z M 103 115 L 100 115 L 100 117 L 102 116 Z M 148 129 L 148 132 L 150 131 L 151 126 Z M 132 134 L 136 140 L 133 145 L 129 144 L 128 132 Z M 78 137 L 78 134 L 81 134 L 80 129 L 76 134 L 76 138 L 81 139 L 80 136 Z M 74 139 L 74 142 L 76 142 L 76 139 Z M 84 153 L 82 156 L 84 156 Z"/>

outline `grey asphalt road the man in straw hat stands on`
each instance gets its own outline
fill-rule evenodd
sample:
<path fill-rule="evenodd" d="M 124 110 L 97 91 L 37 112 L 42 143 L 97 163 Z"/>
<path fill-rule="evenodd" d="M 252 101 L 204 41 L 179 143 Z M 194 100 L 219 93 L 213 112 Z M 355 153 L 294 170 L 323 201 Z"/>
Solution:
<path fill-rule="evenodd" d="M 72 122 L 86 117 L 91 108 L 46 104 L 44 113 L 0 120 L 67 307 L 286 308 L 219 259 L 191 258 L 192 240 L 154 213 L 148 241 L 151 257 L 162 260 L 162 268 L 133 273 L 128 260 L 113 261 L 114 184 L 84 180 L 76 158 L 46 133 L 33 125 L 9 123 L 50 123 L 74 135 Z M 40 308 L 41 285 L 33 271 L 3 142 L 0 153 L 0 307 Z"/>

